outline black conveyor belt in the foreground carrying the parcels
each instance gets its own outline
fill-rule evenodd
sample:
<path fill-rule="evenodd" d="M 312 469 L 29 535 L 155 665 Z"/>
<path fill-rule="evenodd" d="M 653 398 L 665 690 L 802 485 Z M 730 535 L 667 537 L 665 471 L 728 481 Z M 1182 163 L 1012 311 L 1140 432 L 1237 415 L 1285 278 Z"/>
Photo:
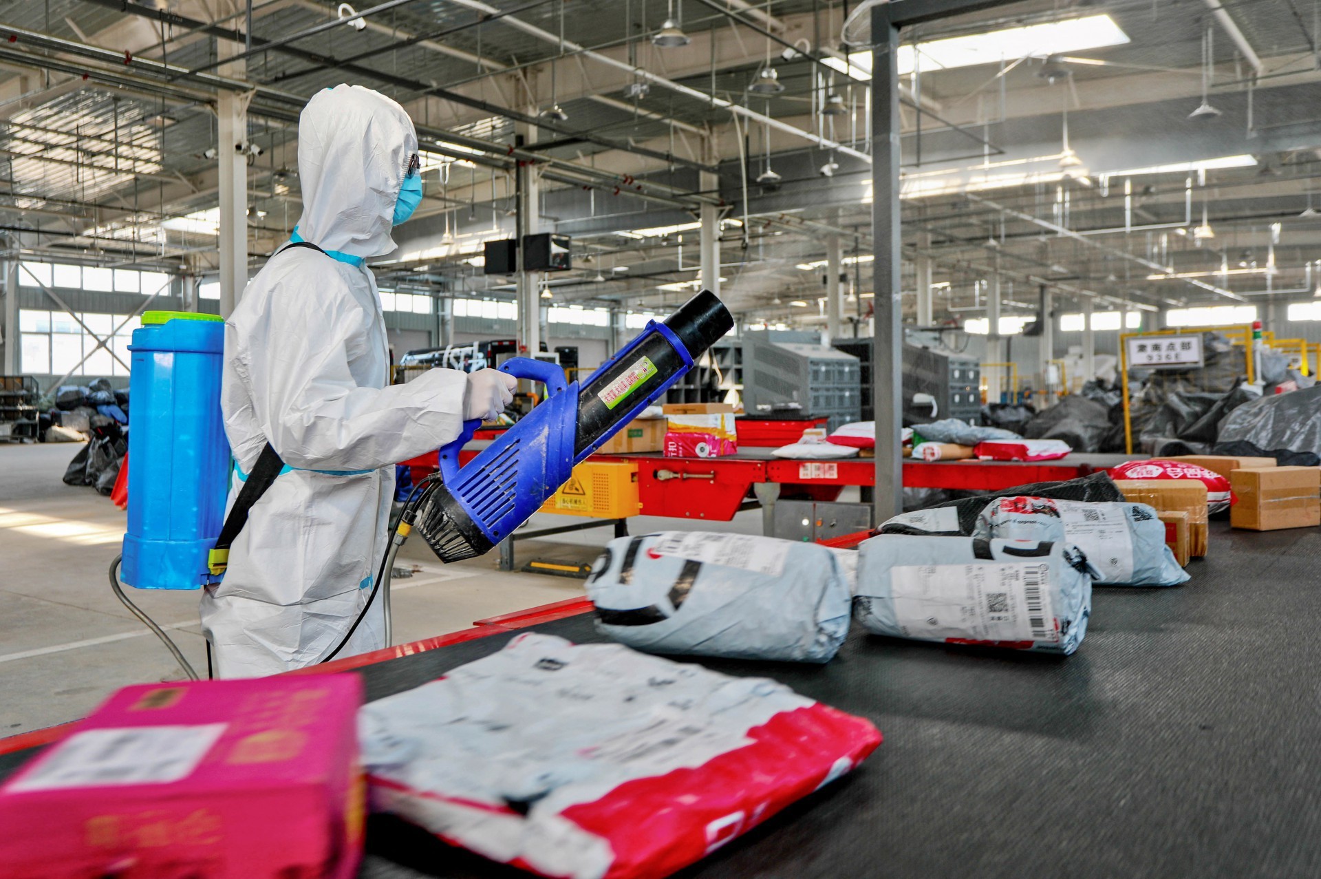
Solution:
<path fill-rule="evenodd" d="M 683 875 L 777 879 L 1321 875 L 1321 530 L 1211 525 L 1169 590 L 1098 588 L 1067 658 L 856 627 L 827 666 L 707 661 L 871 718 L 853 775 Z M 600 640 L 583 616 L 536 627 Z M 498 649 L 362 671 L 380 698 Z M 0 757 L 0 773 L 13 756 Z M 520 876 L 374 820 L 362 876 Z M 404 866 L 407 864 L 407 866 Z"/>

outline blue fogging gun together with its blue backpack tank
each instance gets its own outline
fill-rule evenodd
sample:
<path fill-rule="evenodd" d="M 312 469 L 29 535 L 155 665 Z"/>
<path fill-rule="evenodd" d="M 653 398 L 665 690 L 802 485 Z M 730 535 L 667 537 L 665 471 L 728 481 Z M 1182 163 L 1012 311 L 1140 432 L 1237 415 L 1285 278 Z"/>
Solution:
<path fill-rule="evenodd" d="M 221 414 L 223 323 L 148 313 L 133 330 L 128 435 L 128 531 L 120 578 L 143 590 L 215 583 L 209 554 L 225 522 L 231 459 Z M 687 373 L 733 317 L 709 291 L 664 323 L 651 321 L 585 382 L 555 363 L 517 357 L 501 369 L 544 382 L 544 402 L 462 468 L 458 451 L 480 422 L 440 449 L 441 481 L 419 494 L 416 530 L 443 562 L 481 555 L 568 481 L 573 465 Z M 412 510 L 410 510 L 412 513 Z"/>

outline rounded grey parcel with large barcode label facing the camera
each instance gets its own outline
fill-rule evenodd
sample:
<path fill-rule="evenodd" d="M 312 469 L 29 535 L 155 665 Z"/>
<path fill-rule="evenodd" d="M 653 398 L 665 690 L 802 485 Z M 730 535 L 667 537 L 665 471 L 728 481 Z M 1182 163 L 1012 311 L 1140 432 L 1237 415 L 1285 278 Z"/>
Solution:
<path fill-rule="evenodd" d="M 876 634 L 1067 656 L 1087 631 L 1094 570 L 1074 546 L 881 534 L 859 553 L 853 616 Z"/>

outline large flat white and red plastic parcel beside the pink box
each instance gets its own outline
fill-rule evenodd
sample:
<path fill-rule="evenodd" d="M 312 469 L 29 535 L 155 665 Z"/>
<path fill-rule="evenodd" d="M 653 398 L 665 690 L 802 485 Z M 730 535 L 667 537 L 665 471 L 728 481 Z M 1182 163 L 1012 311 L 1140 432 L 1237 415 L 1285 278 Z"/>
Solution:
<path fill-rule="evenodd" d="M 766 678 L 527 633 L 359 715 L 378 812 L 544 876 L 667 876 L 849 772 L 871 722 Z"/>

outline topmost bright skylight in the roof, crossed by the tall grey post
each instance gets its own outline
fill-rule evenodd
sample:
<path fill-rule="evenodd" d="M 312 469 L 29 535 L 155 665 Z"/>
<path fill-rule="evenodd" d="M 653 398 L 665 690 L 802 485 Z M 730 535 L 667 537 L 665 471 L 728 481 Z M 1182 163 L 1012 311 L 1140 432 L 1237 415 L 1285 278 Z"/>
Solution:
<path fill-rule="evenodd" d="M 914 45 L 900 46 L 898 71 L 908 75 L 921 58 L 922 70 L 952 70 L 982 63 L 1000 63 L 1017 58 L 1045 58 L 1067 52 L 1086 52 L 1106 46 L 1122 46 L 1128 34 L 1119 29 L 1110 16 L 1087 16 L 1066 21 L 1048 21 L 1022 28 L 1005 28 L 991 33 L 972 33 Z M 823 61 L 855 79 L 872 78 L 872 54 L 851 52 L 848 59 L 830 56 Z"/>

